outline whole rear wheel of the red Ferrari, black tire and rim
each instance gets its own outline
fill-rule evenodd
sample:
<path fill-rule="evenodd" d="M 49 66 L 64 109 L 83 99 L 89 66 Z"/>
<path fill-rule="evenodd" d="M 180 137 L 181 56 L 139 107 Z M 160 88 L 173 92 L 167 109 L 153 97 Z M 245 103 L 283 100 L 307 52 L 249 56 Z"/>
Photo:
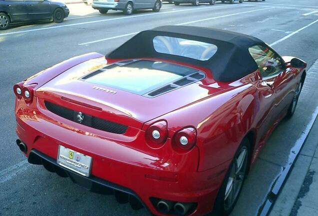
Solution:
<path fill-rule="evenodd" d="M 249 151 L 249 140 L 247 137 L 244 137 L 237 148 L 233 160 L 223 179 L 222 185 L 217 193 L 213 209 L 215 211 L 215 215 L 229 215 L 229 213 L 233 210 L 241 191 L 244 178 L 247 174 L 250 155 Z M 239 165 L 237 162 L 239 162 Z"/>

